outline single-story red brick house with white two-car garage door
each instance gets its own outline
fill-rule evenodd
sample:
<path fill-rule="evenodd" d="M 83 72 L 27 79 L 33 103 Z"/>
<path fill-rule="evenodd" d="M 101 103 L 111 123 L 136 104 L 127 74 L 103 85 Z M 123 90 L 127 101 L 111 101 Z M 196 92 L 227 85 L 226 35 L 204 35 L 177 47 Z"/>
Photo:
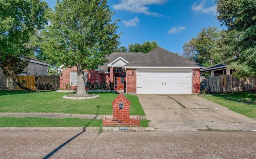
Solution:
<path fill-rule="evenodd" d="M 112 53 L 106 65 L 85 71 L 90 82 L 114 82 L 115 90 L 137 94 L 200 92 L 200 65 L 160 47 L 144 53 Z M 60 87 L 76 85 L 76 67 L 59 69 Z"/>

